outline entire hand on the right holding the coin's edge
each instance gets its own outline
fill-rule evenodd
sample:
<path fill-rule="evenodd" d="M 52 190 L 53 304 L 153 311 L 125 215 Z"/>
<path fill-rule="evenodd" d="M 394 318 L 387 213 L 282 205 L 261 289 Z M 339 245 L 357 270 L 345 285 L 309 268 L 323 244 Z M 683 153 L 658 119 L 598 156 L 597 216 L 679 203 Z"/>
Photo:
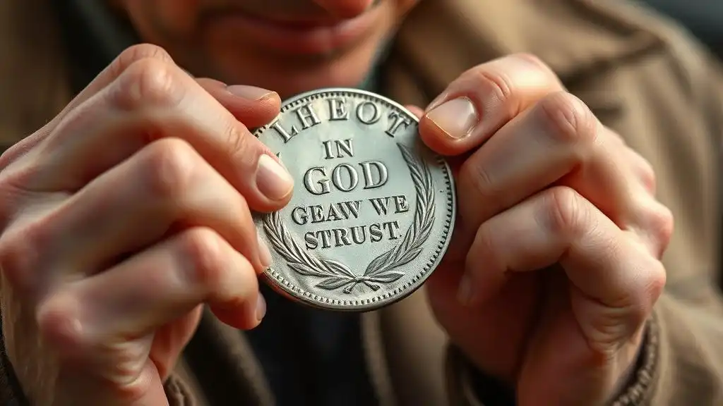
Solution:
<path fill-rule="evenodd" d="M 463 155 L 455 236 L 428 284 L 450 339 L 519 405 L 609 401 L 665 284 L 672 215 L 649 163 L 531 56 L 465 72 L 419 128 Z"/>

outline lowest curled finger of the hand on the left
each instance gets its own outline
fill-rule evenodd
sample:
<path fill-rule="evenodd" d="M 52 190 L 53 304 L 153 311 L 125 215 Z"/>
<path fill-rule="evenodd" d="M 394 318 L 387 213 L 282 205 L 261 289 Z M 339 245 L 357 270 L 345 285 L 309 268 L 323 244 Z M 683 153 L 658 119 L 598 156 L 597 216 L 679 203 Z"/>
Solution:
<path fill-rule="evenodd" d="M 38 324 L 44 336 L 64 344 L 65 355 L 102 360 L 94 350 L 145 337 L 200 303 L 244 329 L 259 324 L 265 311 L 251 264 L 208 228 L 186 230 L 64 285 L 40 304 Z"/>

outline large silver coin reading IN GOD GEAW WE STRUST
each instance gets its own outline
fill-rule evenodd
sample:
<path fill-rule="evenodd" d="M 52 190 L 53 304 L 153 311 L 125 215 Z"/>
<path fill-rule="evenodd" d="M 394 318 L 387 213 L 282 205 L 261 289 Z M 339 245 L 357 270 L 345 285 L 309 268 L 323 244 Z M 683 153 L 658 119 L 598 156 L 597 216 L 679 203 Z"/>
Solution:
<path fill-rule="evenodd" d="M 255 131 L 295 182 L 286 207 L 254 214 L 275 290 L 312 306 L 369 311 L 424 283 L 452 236 L 455 189 L 417 129 L 414 114 L 392 100 L 325 89 L 286 101 Z"/>

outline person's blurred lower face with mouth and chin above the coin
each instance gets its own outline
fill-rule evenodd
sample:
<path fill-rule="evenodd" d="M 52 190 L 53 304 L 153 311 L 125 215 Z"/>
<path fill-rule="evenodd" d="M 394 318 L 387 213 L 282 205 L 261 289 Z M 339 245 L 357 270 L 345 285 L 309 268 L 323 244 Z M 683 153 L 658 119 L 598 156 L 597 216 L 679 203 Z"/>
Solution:
<path fill-rule="evenodd" d="M 194 74 L 288 97 L 358 85 L 418 0 L 114 0 Z"/>

